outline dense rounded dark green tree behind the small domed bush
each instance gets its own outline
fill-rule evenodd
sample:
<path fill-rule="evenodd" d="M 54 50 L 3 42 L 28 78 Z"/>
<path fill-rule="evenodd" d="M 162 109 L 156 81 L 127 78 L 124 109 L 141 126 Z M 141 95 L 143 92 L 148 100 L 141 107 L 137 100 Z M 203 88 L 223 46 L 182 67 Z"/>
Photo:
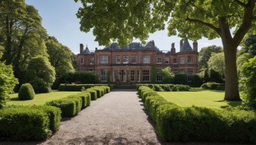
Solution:
<path fill-rule="evenodd" d="M 36 93 L 51 92 L 55 75 L 54 67 L 51 66 L 47 57 L 38 55 L 29 61 L 26 78 Z"/>

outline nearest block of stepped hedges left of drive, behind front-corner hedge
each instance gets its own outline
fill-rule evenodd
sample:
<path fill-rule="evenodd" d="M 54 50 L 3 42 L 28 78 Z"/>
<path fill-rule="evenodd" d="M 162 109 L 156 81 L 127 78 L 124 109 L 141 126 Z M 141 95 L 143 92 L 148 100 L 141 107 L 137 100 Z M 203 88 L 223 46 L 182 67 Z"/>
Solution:
<path fill-rule="evenodd" d="M 59 107 L 62 117 L 72 117 L 76 114 L 76 102 L 71 99 L 51 100 L 46 102 L 46 105 Z"/>

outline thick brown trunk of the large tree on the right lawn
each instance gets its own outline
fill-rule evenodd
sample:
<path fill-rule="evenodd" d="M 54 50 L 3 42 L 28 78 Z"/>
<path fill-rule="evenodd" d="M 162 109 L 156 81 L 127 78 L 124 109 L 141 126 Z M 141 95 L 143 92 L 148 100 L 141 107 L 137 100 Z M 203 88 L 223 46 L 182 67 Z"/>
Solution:
<path fill-rule="evenodd" d="M 225 54 L 225 100 L 241 100 L 238 89 L 236 52 L 237 48 L 224 46 Z"/>

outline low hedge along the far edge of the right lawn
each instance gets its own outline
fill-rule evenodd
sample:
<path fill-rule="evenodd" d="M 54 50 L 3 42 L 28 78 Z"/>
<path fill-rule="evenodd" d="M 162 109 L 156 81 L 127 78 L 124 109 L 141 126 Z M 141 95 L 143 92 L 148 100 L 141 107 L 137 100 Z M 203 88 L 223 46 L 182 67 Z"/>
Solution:
<path fill-rule="evenodd" d="M 148 86 L 152 88 L 152 90 L 157 92 L 178 92 L 178 91 L 189 91 L 188 85 L 173 85 L 173 84 L 137 84 L 136 88 L 140 88 L 140 86 Z"/>

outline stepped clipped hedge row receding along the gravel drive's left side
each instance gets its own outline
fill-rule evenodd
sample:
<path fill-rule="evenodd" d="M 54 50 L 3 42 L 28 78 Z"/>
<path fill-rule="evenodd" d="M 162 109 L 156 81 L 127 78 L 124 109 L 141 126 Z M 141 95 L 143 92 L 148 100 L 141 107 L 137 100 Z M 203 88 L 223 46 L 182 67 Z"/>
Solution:
<path fill-rule="evenodd" d="M 60 107 L 61 116 L 72 117 L 78 114 L 81 109 L 90 106 L 91 100 L 97 100 L 98 97 L 102 97 L 105 92 L 109 91 L 109 86 L 94 86 L 76 95 L 69 95 L 67 98 L 51 100 L 46 102 L 46 105 Z"/>

